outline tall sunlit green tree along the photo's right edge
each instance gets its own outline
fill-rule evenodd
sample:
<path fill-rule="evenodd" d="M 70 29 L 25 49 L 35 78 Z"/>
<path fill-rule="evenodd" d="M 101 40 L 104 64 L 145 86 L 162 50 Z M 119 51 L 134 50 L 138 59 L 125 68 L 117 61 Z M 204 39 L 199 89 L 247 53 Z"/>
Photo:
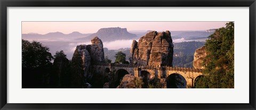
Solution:
<path fill-rule="evenodd" d="M 196 87 L 234 88 L 234 22 L 217 29 L 206 40 L 202 83 Z"/>

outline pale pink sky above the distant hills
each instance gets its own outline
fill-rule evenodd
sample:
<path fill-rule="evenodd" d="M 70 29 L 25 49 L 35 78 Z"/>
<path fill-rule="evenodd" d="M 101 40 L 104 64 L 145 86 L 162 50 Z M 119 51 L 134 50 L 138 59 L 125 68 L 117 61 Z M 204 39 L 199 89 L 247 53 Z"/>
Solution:
<path fill-rule="evenodd" d="M 104 27 L 122 27 L 128 31 L 190 31 L 209 30 L 224 27 L 227 22 L 22 22 L 22 34 L 62 32 L 65 34 L 78 31 L 95 33 Z"/>

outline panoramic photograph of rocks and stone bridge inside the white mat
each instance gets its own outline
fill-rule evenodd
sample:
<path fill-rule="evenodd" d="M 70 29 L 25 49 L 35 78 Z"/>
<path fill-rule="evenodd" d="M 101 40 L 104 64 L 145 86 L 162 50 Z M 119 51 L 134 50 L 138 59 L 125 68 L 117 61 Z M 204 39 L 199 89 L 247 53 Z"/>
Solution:
<path fill-rule="evenodd" d="M 22 88 L 234 88 L 234 21 L 22 21 Z"/>

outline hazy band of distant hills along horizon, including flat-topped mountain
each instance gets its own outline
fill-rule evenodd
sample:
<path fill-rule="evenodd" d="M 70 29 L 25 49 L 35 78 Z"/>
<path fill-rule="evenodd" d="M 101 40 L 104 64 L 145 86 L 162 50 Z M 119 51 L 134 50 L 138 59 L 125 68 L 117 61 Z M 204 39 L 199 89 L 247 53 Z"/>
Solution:
<path fill-rule="evenodd" d="M 83 34 L 80 32 L 72 32 L 64 34 L 61 32 L 50 32 L 47 34 L 28 33 L 22 34 L 22 39 L 36 40 L 36 41 L 74 41 L 74 42 L 91 42 L 94 36 L 98 36 L 102 42 L 109 42 L 115 40 L 138 40 L 150 30 L 138 30 L 127 32 L 126 28 L 109 27 L 102 28 L 96 33 Z M 162 31 L 158 31 L 162 32 Z M 170 31 L 174 42 L 182 41 L 204 41 L 207 36 L 211 35 L 211 31 Z M 177 40 L 176 40 L 177 39 Z M 179 40 L 183 39 L 183 40 Z M 203 39 L 203 40 L 199 40 Z"/>

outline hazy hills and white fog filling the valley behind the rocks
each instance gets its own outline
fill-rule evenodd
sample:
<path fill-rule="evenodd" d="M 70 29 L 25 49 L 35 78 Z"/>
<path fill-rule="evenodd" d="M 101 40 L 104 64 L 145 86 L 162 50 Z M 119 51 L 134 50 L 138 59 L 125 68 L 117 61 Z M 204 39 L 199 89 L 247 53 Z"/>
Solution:
<path fill-rule="evenodd" d="M 79 44 L 91 44 L 91 39 L 98 36 L 104 48 L 108 50 L 122 50 L 131 48 L 133 40 L 137 40 L 150 30 L 133 30 L 127 31 L 122 27 L 102 28 L 95 33 L 72 32 L 64 34 L 62 32 L 50 32 L 47 34 L 27 33 L 22 34 L 22 39 L 28 41 L 38 41 L 50 48 L 50 52 L 55 54 L 56 51 L 63 50 L 67 54 L 67 58 L 71 59 L 74 50 Z M 162 32 L 162 31 L 157 31 Z M 174 43 L 186 41 L 205 41 L 207 36 L 213 32 L 206 30 L 199 31 L 170 31 Z M 127 54 L 129 56 L 129 54 Z M 114 56 L 108 56 L 113 58 Z"/>

